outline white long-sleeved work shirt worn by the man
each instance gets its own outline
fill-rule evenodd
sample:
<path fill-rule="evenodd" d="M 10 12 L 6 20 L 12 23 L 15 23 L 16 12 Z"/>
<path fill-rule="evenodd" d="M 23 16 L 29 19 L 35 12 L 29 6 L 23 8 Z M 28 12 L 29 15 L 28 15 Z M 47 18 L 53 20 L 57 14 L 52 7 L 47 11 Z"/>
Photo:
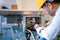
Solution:
<path fill-rule="evenodd" d="M 60 7 L 57 9 L 52 23 L 44 30 L 41 30 L 41 28 L 37 28 L 36 31 L 41 38 L 46 38 L 47 40 L 55 39 L 60 31 Z"/>

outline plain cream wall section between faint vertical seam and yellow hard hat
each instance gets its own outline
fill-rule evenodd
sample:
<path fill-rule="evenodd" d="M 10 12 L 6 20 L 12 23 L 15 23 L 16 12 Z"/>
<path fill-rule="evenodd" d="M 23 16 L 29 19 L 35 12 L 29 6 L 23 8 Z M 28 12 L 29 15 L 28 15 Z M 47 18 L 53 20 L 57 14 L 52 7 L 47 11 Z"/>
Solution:
<path fill-rule="evenodd" d="M 37 11 L 37 5 L 35 0 L 23 0 L 23 10 L 25 11 Z"/>

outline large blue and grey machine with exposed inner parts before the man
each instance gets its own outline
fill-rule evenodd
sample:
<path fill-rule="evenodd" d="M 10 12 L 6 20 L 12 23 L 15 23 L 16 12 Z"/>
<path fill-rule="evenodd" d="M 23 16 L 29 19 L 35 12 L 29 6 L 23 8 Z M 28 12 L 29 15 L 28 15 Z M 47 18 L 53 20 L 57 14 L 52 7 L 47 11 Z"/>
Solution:
<path fill-rule="evenodd" d="M 1 11 L 2 40 L 38 40 L 40 37 L 34 29 L 34 24 L 42 26 L 45 23 L 45 14 L 40 13 L 40 11 Z"/>

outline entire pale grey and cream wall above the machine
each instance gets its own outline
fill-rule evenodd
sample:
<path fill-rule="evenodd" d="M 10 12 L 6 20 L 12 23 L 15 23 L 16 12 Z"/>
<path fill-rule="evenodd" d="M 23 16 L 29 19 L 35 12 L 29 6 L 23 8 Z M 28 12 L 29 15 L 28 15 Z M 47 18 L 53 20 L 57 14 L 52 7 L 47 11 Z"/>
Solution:
<path fill-rule="evenodd" d="M 12 4 L 18 5 L 18 10 L 20 11 L 37 11 L 36 0 L 0 0 L 2 5 L 7 6 L 11 9 Z"/>

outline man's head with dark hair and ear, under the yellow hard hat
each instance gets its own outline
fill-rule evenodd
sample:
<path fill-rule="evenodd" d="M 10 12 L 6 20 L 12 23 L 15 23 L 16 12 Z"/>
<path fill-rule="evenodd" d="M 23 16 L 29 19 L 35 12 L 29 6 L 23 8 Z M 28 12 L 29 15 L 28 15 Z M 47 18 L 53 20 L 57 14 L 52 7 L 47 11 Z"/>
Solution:
<path fill-rule="evenodd" d="M 40 0 L 43 1 L 43 0 Z M 42 4 L 42 8 L 47 11 L 50 15 L 55 15 L 56 10 L 58 9 L 60 0 L 46 0 Z"/>

